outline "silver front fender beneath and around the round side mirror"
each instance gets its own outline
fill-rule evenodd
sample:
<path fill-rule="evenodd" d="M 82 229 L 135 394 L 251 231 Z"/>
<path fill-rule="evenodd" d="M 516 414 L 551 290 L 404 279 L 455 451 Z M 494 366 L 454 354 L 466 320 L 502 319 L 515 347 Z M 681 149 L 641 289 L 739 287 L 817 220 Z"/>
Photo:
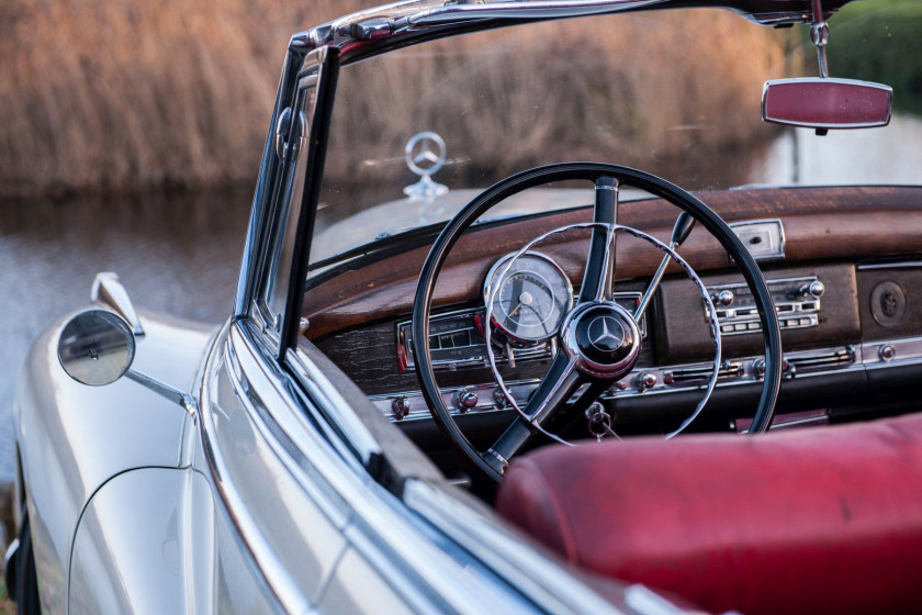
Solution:
<path fill-rule="evenodd" d="M 71 380 L 57 358 L 58 336 L 74 314 L 33 345 L 13 407 L 27 514 L 45 611 L 66 608 L 70 549 L 90 496 L 133 468 L 181 465 L 191 417 L 180 406 L 123 378 L 105 387 Z M 216 327 L 143 313 L 133 369 L 191 392 Z"/>

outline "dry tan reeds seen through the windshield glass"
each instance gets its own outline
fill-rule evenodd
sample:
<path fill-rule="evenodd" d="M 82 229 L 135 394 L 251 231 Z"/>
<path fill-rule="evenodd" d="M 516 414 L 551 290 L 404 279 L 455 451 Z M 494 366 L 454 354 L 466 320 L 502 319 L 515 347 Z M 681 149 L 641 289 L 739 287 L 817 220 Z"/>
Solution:
<path fill-rule="evenodd" d="M 454 185 L 577 159 L 704 168 L 693 157 L 732 156 L 774 134 L 758 121 L 760 94 L 785 71 L 782 43 L 709 10 L 530 25 L 407 49 L 344 71 L 340 90 L 362 94 L 337 107 L 333 138 L 342 147 L 330 148 L 327 168 L 355 163 L 356 144 L 370 160 L 393 158 L 423 130 L 450 137 L 449 155 L 468 160 L 448 171 Z M 373 183 L 385 172 L 353 165 L 350 179 Z"/>

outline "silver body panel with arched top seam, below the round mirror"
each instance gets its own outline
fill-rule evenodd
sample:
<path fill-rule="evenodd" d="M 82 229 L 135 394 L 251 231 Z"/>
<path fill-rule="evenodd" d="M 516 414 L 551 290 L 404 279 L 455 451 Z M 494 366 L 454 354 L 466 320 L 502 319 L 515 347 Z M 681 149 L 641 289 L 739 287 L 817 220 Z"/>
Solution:
<path fill-rule="evenodd" d="M 80 517 L 69 613 L 213 613 L 214 545 L 214 505 L 201 473 L 119 474 Z"/>

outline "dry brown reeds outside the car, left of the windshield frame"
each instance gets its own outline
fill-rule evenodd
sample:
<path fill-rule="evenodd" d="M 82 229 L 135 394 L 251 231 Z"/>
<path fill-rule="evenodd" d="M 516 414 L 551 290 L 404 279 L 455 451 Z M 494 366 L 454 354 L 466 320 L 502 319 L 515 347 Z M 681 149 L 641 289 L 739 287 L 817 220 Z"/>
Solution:
<path fill-rule="evenodd" d="M 0 3 L 0 194 L 252 181 L 289 37 L 368 3 Z"/>

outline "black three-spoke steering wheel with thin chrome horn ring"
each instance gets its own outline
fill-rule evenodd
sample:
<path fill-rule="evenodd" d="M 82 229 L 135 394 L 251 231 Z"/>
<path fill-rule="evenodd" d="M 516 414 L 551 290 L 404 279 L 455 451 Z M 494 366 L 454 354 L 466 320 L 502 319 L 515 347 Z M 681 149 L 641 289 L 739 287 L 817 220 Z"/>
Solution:
<path fill-rule="evenodd" d="M 593 181 L 596 190 L 593 222 L 566 227 L 589 227 L 592 228 L 592 238 L 580 297 L 576 304 L 564 317 L 558 333 L 560 342 L 558 347 L 563 350 L 558 351 L 553 357 L 548 372 L 526 406 L 524 409 L 516 406 L 519 414 L 513 424 L 486 451 L 480 451 L 456 424 L 436 382 L 429 347 L 429 314 L 436 280 L 451 248 L 471 224 L 486 211 L 513 194 L 529 188 L 566 180 Z M 762 272 L 752 255 L 730 226 L 696 197 L 652 174 L 603 163 L 548 165 L 501 180 L 481 192 L 449 221 L 426 257 L 413 305 L 413 351 L 416 358 L 416 374 L 419 378 L 423 395 L 432 413 L 432 417 L 456 450 L 484 476 L 496 482 L 502 479 L 508 460 L 525 446 L 533 434 L 547 434 L 541 426 L 547 424 L 552 416 L 566 407 L 570 407 L 572 412 L 585 410 L 606 389 L 627 376 L 637 362 L 641 345 L 637 318 L 612 301 L 611 282 L 615 269 L 617 233 L 627 231 L 631 235 L 652 241 L 673 260 L 679 262 L 686 273 L 693 278 L 693 281 L 697 280 L 699 291 L 704 290 L 697 275 L 675 254 L 672 247 L 640 231 L 620 226 L 616 223 L 618 190 L 621 186 L 639 188 L 684 210 L 695 221 L 702 224 L 737 262 L 755 300 L 765 342 L 765 373 L 762 395 L 750 434 L 763 433 L 772 423 L 775 401 L 782 381 L 780 328 L 765 279 L 762 277 Z M 526 249 L 544 236 L 566 228 L 555 230 L 536 238 L 519 250 L 517 256 L 524 254 Z M 659 283 L 657 278 L 659 276 L 654 277 L 651 288 L 648 289 L 648 295 L 655 290 L 655 284 Z M 711 329 L 715 334 L 717 346 L 715 362 L 717 364 L 720 353 L 720 327 L 717 324 L 713 305 L 706 291 L 704 292 L 704 300 L 708 306 Z M 490 306 L 490 303 L 487 299 L 487 306 Z M 609 323 L 611 326 L 605 323 Z M 490 324 L 486 326 L 488 327 Z M 595 338 L 599 336 L 593 336 L 589 331 L 593 327 L 603 327 L 605 331 L 609 328 L 618 329 L 619 333 L 611 339 L 606 340 L 605 344 L 598 344 L 598 339 Z M 593 344 L 594 340 L 596 344 Z M 693 417 L 697 416 L 709 396 L 710 389 L 712 389 L 717 379 L 716 368 L 717 366 L 708 388 L 708 394 L 705 395 Z M 572 405 L 569 404 L 573 394 L 585 384 L 588 384 L 585 392 Z M 505 390 L 502 381 L 501 389 Z M 690 418 L 686 421 L 686 424 L 688 422 L 690 422 Z"/>

